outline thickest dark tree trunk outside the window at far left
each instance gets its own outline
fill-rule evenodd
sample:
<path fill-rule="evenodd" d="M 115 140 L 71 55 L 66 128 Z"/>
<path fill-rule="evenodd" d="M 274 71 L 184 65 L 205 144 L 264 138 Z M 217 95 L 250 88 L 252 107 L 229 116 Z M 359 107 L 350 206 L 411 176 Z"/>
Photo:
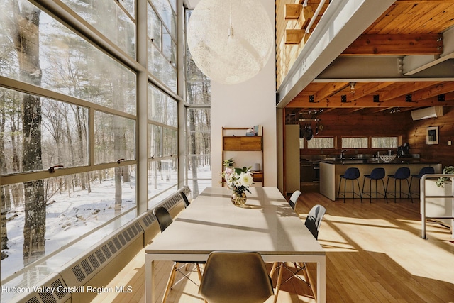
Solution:
<path fill-rule="evenodd" d="M 21 1 L 13 1 L 14 21 L 11 35 L 18 54 L 21 81 L 41 85 L 39 54 L 40 10 Z M 41 99 L 23 94 L 23 171 L 42 170 Z M 24 265 L 45 253 L 45 199 L 43 180 L 24 182 L 25 222 L 23 226 Z"/>

